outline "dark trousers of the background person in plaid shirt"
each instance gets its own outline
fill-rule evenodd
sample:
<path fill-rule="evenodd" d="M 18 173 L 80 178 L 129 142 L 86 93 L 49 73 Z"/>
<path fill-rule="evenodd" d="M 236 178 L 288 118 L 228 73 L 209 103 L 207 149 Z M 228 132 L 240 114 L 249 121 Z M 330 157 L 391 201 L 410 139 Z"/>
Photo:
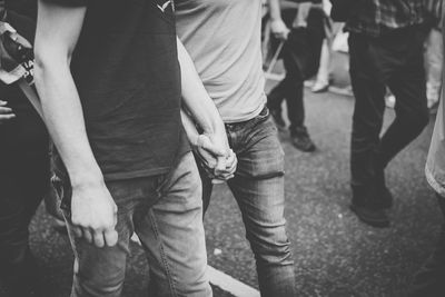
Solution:
<path fill-rule="evenodd" d="M 428 123 L 422 27 L 370 38 L 349 38 L 350 78 L 355 96 L 350 149 L 355 192 L 373 188 L 377 172 Z M 386 87 L 396 97 L 396 118 L 380 137 Z"/>

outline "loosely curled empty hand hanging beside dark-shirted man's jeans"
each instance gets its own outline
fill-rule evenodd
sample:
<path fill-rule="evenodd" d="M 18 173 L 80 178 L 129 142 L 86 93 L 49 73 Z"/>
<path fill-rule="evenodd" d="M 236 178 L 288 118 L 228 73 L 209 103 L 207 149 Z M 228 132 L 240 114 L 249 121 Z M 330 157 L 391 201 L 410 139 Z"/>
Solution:
<path fill-rule="evenodd" d="M 103 182 L 72 188 L 71 221 L 77 237 L 102 248 L 118 241 L 117 206 Z"/>

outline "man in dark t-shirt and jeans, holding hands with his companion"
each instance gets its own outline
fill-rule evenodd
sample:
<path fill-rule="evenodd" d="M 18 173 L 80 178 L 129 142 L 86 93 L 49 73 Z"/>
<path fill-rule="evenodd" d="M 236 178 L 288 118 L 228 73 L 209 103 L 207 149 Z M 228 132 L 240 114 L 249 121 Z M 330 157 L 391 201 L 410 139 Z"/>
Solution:
<path fill-rule="evenodd" d="M 39 1 L 36 85 L 58 150 L 56 188 L 76 256 L 71 296 L 120 296 L 134 231 L 154 296 L 211 295 L 181 96 L 217 168 L 230 166 L 230 155 L 177 42 L 171 1 Z"/>

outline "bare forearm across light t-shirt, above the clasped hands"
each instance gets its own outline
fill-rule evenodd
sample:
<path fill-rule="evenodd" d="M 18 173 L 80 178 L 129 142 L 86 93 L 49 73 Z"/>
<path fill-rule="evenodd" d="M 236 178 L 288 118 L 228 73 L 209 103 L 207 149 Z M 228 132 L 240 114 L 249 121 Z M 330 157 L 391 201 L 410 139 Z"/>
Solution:
<path fill-rule="evenodd" d="M 178 39 L 178 59 L 181 68 L 182 103 L 200 128 L 207 132 L 225 129 L 218 109 L 208 96 L 187 50 Z"/>

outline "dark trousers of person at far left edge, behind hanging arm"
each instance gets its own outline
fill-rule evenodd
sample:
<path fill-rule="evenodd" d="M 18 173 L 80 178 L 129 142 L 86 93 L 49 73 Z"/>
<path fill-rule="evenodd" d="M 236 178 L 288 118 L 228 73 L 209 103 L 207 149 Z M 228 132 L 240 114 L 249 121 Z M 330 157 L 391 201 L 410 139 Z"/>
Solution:
<path fill-rule="evenodd" d="M 28 227 L 49 185 L 48 137 L 31 111 L 0 125 L 0 283 L 27 297 L 38 281 Z"/>

